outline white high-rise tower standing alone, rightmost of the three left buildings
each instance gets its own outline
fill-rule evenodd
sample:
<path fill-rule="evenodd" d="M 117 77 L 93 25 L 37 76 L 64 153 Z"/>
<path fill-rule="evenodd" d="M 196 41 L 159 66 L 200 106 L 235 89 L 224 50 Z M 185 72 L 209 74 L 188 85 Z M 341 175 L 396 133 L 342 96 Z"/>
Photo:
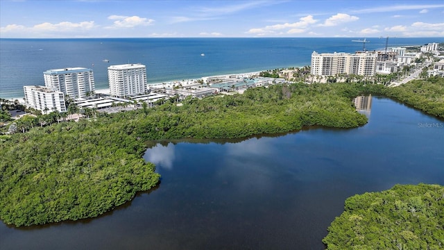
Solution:
<path fill-rule="evenodd" d="M 108 67 L 110 93 L 114 97 L 128 97 L 146 92 L 146 66 L 141 64 L 111 65 Z"/>

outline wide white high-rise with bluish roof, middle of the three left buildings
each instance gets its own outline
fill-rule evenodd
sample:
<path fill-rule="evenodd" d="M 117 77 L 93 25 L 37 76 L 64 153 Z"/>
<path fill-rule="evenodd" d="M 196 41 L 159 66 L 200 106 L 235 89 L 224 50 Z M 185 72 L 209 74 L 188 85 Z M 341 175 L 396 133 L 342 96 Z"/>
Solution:
<path fill-rule="evenodd" d="M 43 75 L 46 87 L 63 92 L 72 99 L 85 98 L 88 92 L 95 90 L 92 69 L 83 67 L 49 69 L 43 72 Z"/>

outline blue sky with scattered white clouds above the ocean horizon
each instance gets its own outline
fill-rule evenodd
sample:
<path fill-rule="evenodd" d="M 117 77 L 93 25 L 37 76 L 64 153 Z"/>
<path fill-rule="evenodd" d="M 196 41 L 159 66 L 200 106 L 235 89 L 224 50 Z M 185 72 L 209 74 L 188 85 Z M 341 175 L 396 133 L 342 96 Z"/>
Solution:
<path fill-rule="evenodd" d="M 444 1 L 9 1 L 0 38 L 444 38 Z"/>

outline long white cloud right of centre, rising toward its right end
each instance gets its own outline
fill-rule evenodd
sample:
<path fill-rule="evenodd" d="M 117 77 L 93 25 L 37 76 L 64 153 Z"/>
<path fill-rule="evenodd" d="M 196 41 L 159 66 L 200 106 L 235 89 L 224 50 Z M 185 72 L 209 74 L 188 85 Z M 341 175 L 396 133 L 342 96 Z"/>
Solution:
<path fill-rule="evenodd" d="M 301 17 L 299 22 L 285 23 L 285 24 L 274 24 L 268 25 L 264 28 L 250 28 L 247 33 L 250 34 L 271 34 L 275 31 L 288 29 L 287 33 L 303 33 L 311 24 L 316 24 L 318 20 L 314 19 L 313 16 L 307 15 L 306 17 Z"/>

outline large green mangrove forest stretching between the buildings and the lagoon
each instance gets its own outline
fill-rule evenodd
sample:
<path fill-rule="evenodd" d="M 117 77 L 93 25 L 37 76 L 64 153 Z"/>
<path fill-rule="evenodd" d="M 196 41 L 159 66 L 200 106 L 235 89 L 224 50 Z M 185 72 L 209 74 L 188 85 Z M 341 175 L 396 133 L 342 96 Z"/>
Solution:
<path fill-rule="evenodd" d="M 0 219 L 30 226 L 96 217 L 153 188 L 146 142 L 182 138 L 244 138 L 304 126 L 366 124 L 352 98 L 377 94 L 444 117 L 444 81 L 398 88 L 358 83 L 271 85 L 244 94 L 173 100 L 154 108 L 99 113 L 79 122 L 35 126 L 0 137 Z M 21 133 L 24 132 L 24 133 Z"/>

